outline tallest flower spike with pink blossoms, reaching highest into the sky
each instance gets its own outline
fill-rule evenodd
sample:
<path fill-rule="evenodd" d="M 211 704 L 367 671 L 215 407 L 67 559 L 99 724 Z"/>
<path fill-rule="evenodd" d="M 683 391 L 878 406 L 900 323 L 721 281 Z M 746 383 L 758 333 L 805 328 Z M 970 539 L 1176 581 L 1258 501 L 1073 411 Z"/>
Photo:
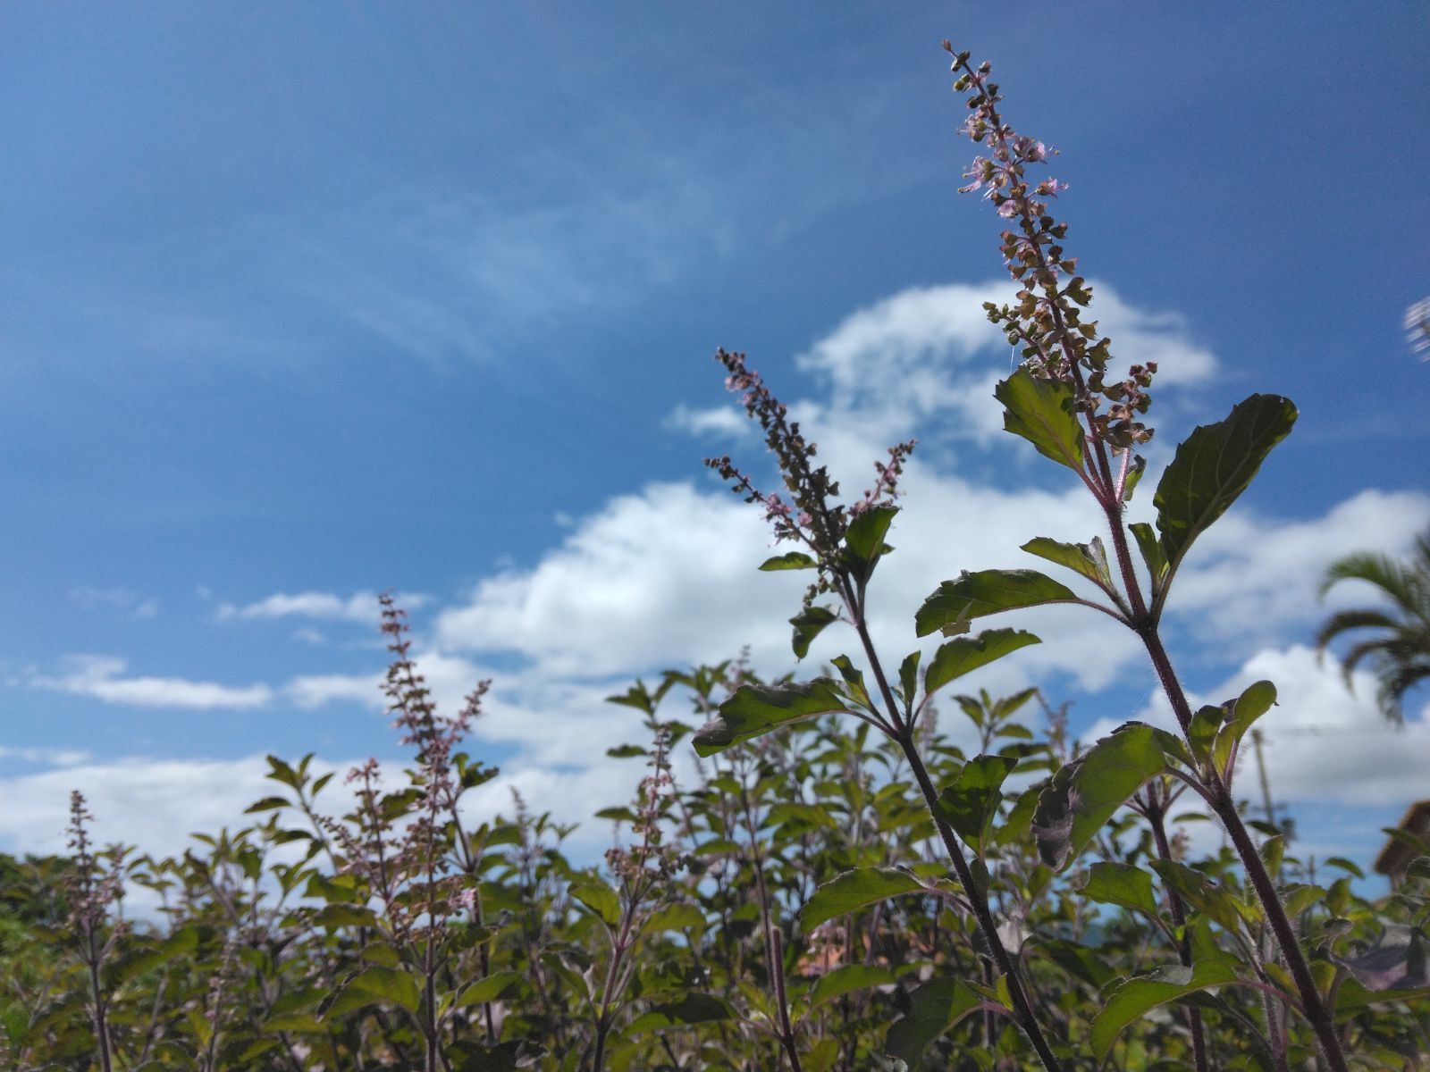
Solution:
<path fill-rule="evenodd" d="M 952 53 L 952 46 L 944 41 Z M 1087 280 L 1077 274 L 1077 259 L 1065 257 L 1061 242 L 1067 224 L 1048 214 L 1048 199 L 1067 183 L 1044 179 L 1030 186 L 1028 164 L 1045 163 L 1057 150 L 1018 134 L 998 113 L 998 84 L 988 79 L 988 63 L 970 64 L 970 53 L 954 53 L 958 73 L 954 90 L 968 94 L 968 117 L 961 133 L 987 144 L 988 156 L 974 157 L 961 193 L 982 190 L 998 214 L 1015 220 L 1017 229 L 1002 233 L 1002 256 L 1021 284 L 1017 303 L 984 304 L 988 319 L 1001 324 L 1008 343 L 1021 347 L 1024 366 L 1035 376 L 1070 382 L 1077 387 L 1077 405 L 1088 415 L 1095 435 L 1117 450 L 1145 443 L 1153 436 L 1138 417 L 1151 405 L 1147 387 L 1157 372 L 1155 362 L 1134 364 L 1123 379 L 1108 379 L 1110 340 L 1098 337 L 1097 322 L 1083 320 L 1093 302 Z M 1065 280 L 1065 282 L 1064 282 Z M 1107 407 L 1104 410 L 1104 402 Z"/>

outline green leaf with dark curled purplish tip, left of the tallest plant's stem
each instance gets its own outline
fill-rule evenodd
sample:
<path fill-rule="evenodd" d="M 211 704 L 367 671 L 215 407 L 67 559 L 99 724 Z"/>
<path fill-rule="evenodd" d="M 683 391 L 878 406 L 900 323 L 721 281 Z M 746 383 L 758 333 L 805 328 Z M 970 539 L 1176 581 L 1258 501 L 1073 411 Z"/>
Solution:
<path fill-rule="evenodd" d="M 1165 730 L 1128 722 L 1060 768 L 1038 795 L 1032 836 L 1042 862 L 1061 870 L 1148 779 L 1167 769 Z"/>

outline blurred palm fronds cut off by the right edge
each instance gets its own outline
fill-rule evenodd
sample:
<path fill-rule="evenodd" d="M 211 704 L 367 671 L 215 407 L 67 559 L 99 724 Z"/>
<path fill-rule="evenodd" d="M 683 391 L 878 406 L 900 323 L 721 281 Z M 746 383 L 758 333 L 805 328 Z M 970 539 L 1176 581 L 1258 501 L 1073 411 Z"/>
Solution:
<path fill-rule="evenodd" d="M 1321 597 L 1343 580 L 1366 580 L 1380 589 L 1390 606 L 1337 610 L 1321 626 L 1316 647 L 1341 633 L 1361 633 L 1341 657 L 1346 685 L 1363 660 L 1376 675 L 1376 702 L 1390 722 L 1404 722 L 1401 700 L 1416 685 L 1430 679 L 1430 532 L 1416 540 L 1409 562 L 1396 562 L 1373 552 L 1354 552 L 1337 559 L 1321 577 Z"/>

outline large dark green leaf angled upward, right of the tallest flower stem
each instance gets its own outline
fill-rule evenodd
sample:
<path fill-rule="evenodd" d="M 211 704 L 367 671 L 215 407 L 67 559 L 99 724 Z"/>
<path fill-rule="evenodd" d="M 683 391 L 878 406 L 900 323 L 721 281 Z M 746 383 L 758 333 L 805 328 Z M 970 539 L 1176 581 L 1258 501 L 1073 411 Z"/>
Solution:
<path fill-rule="evenodd" d="M 1296 406 L 1280 394 L 1253 394 L 1216 425 L 1193 430 L 1157 485 L 1157 530 L 1168 580 L 1193 540 L 1247 489 L 1261 462 L 1291 432 Z"/>

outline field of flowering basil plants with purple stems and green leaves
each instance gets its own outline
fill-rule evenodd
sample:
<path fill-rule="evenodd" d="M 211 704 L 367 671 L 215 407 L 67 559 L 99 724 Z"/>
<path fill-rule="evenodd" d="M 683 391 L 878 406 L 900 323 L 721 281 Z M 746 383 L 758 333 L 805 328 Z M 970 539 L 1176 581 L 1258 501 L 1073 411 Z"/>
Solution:
<path fill-rule="evenodd" d="M 930 577 L 909 646 L 940 646 L 881 650 L 865 609 L 897 553 L 887 537 L 915 445 L 892 446 L 862 497 L 841 497 L 772 389 L 721 350 L 782 486 L 761 489 L 729 457 L 709 465 L 771 525 L 779 546 L 762 569 L 809 577 L 794 653 L 837 630 L 848 655 L 815 678 L 759 680 L 732 660 L 612 696 L 631 712 L 632 743 L 611 752 L 632 793 L 592 816 L 619 823 L 621 848 L 583 866 L 539 802 L 466 818 L 463 795 L 496 773 L 463 745 L 485 686 L 439 712 L 389 599 L 386 695 L 410 763 L 339 775 L 352 810 L 329 810 L 333 773 L 273 756 L 250 825 L 179 858 L 93 845 L 76 793 L 69 855 L 4 865 L 0 1065 L 1430 1066 L 1430 858 L 1367 900 L 1354 863 L 1313 869 L 1284 829 L 1248 818 L 1248 733 L 1274 719 L 1276 685 L 1194 709 L 1160 629 L 1183 560 L 1296 406 L 1251 394 L 1138 487 L 1157 367 L 1114 364 L 1051 214 L 1062 186 L 1038 173 L 1050 150 L 1008 124 L 987 63 L 948 51 L 978 153 L 964 190 L 1001 220 L 1021 287 L 987 306 L 1017 354 L 997 387 L 1005 429 L 1085 487 L 1105 530 L 1087 543 L 1028 532 L 1042 569 Z M 1154 525 L 1125 520 L 1134 490 Z M 1042 693 L 978 689 L 980 667 L 1040 642 L 1017 612 L 1048 603 L 1131 630 L 1178 730 L 1128 722 L 1075 740 Z M 977 753 L 950 743 L 965 719 Z M 698 755 L 694 779 L 675 776 L 679 750 Z M 1193 852 L 1191 822 L 1224 832 L 1223 848 Z M 124 916 L 139 888 L 156 919 Z"/>

